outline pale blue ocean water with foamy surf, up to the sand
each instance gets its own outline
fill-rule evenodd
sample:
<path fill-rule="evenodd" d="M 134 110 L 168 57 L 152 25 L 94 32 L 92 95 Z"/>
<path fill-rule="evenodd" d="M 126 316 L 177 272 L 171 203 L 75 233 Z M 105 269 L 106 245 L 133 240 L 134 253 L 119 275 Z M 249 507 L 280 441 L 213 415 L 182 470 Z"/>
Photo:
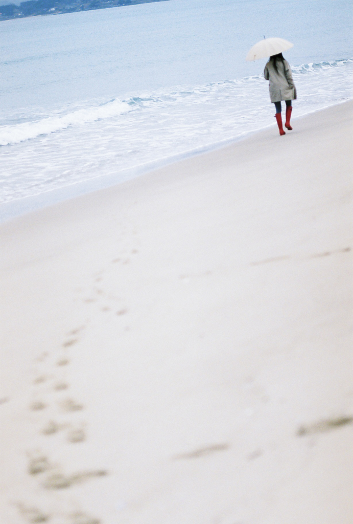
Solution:
<path fill-rule="evenodd" d="M 353 97 L 350 0 L 167 0 L 0 23 L 0 217 L 107 187 L 274 124 L 270 36 L 293 116 Z"/>

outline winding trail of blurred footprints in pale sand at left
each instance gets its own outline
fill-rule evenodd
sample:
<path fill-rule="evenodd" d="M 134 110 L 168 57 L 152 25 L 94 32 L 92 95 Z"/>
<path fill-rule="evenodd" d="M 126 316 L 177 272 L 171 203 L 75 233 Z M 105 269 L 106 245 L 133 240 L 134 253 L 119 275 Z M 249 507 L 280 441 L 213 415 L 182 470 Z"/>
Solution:
<path fill-rule="evenodd" d="M 138 253 L 136 249 L 128 249 L 126 256 L 121 255 L 119 258 L 111 260 L 111 267 L 123 267 L 131 262 L 131 256 Z M 105 270 L 98 271 L 93 275 L 90 292 L 84 292 L 82 289 L 76 291 L 84 297 L 81 297 L 81 303 L 90 305 L 95 303 L 95 306 L 103 313 L 110 312 L 113 316 L 124 318 L 123 315 L 128 313 L 126 307 L 116 307 L 116 302 L 120 299 L 113 296 L 111 293 L 100 289 L 101 283 L 104 280 Z M 101 282 L 101 283 L 100 283 Z M 109 301 L 107 303 L 107 301 Z M 56 355 L 50 366 L 49 361 L 53 355 L 45 352 L 42 353 L 36 361 L 36 375 L 33 378 L 33 401 L 30 404 L 30 410 L 33 414 L 41 415 L 38 417 L 43 420 L 43 414 L 50 412 L 52 416 L 48 416 L 48 420 L 38 422 L 39 433 L 44 438 L 60 438 L 62 445 L 79 445 L 87 439 L 86 423 L 79 420 L 78 415 L 83 414 L 84 406 L 82 403 L 72 398 L 70 395 L 70 385 L 66 380 L 66 370 L 70 365 L 70 352 L 74 350 L 74 346 L 79 342 L 79 336 L 84 326 L 72 330 L 67 333 L 67 336 L 62 343 L 61 354 Z M 129 330 L 125 326 L 124 330 Z M 43 368 L 40 370 L 40 368 Z M 48 367 L 51 368 L 51 373 L 48 373 Z M 54 413 L 54 414 L 53 414 Z M 60 465 L 53 463 L 47 454 L 39 450 L 28 453 L 28 470 L 27 473 L 38 480 L 40 487 L 45 492 L 64 492 L 65 489 L 70 489 L 71 486 L 81 484 L 90 479 L 99 478 L 107 475 L 105 470 L 80 471 L 75 473 L 64 473 Z M 72 512 L 67 514 L 62 521 L 62 515 L 53 515 L 50 512 L 42 511 L 40 508 L 24 503 L 18 503 L 17 509 L 25 522 L 35 524 L 38 522 L 60 522 L 60 524 L 103 524 L 101 520 L 95 516 L 89 516 L 85 512 Z M 59 518 L 59 520 L 58 520 Z"/>

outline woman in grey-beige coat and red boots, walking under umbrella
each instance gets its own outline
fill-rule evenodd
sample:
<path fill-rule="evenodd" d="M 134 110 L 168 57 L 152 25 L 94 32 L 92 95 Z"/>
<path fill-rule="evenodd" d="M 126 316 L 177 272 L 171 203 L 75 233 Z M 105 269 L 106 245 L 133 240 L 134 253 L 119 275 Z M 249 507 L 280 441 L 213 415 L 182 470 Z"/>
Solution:
<path fill-rule="evenodd" d="M 267 62 L 264 70 L 266 80 L 270 81 L 269 90 L 271 102 L 276 106 L 276 120 L 279 134 L 285 135 L 282 125 L 282 104 L 281 100 L 286 101 L 286 123 L 287 129 L 293 129 L 290 125 L 292 114 L 292 100 L 297 100 L 297 89 L 295 88 L 292 71 L 287 60 L 284 60 L 282 53 L 273 54 Z"/>

